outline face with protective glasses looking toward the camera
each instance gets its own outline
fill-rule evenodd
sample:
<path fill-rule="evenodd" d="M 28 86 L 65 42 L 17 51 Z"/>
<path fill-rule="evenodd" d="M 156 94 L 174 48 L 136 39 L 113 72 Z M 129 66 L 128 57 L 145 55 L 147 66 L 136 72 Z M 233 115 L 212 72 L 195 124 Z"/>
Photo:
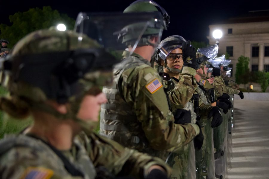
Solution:
<path fill-rule="evenodd" d="M 169 68 L 181 70 L 183 67 L 182 50 L 177 48 L 167 56 L 166 63 Z"/>

